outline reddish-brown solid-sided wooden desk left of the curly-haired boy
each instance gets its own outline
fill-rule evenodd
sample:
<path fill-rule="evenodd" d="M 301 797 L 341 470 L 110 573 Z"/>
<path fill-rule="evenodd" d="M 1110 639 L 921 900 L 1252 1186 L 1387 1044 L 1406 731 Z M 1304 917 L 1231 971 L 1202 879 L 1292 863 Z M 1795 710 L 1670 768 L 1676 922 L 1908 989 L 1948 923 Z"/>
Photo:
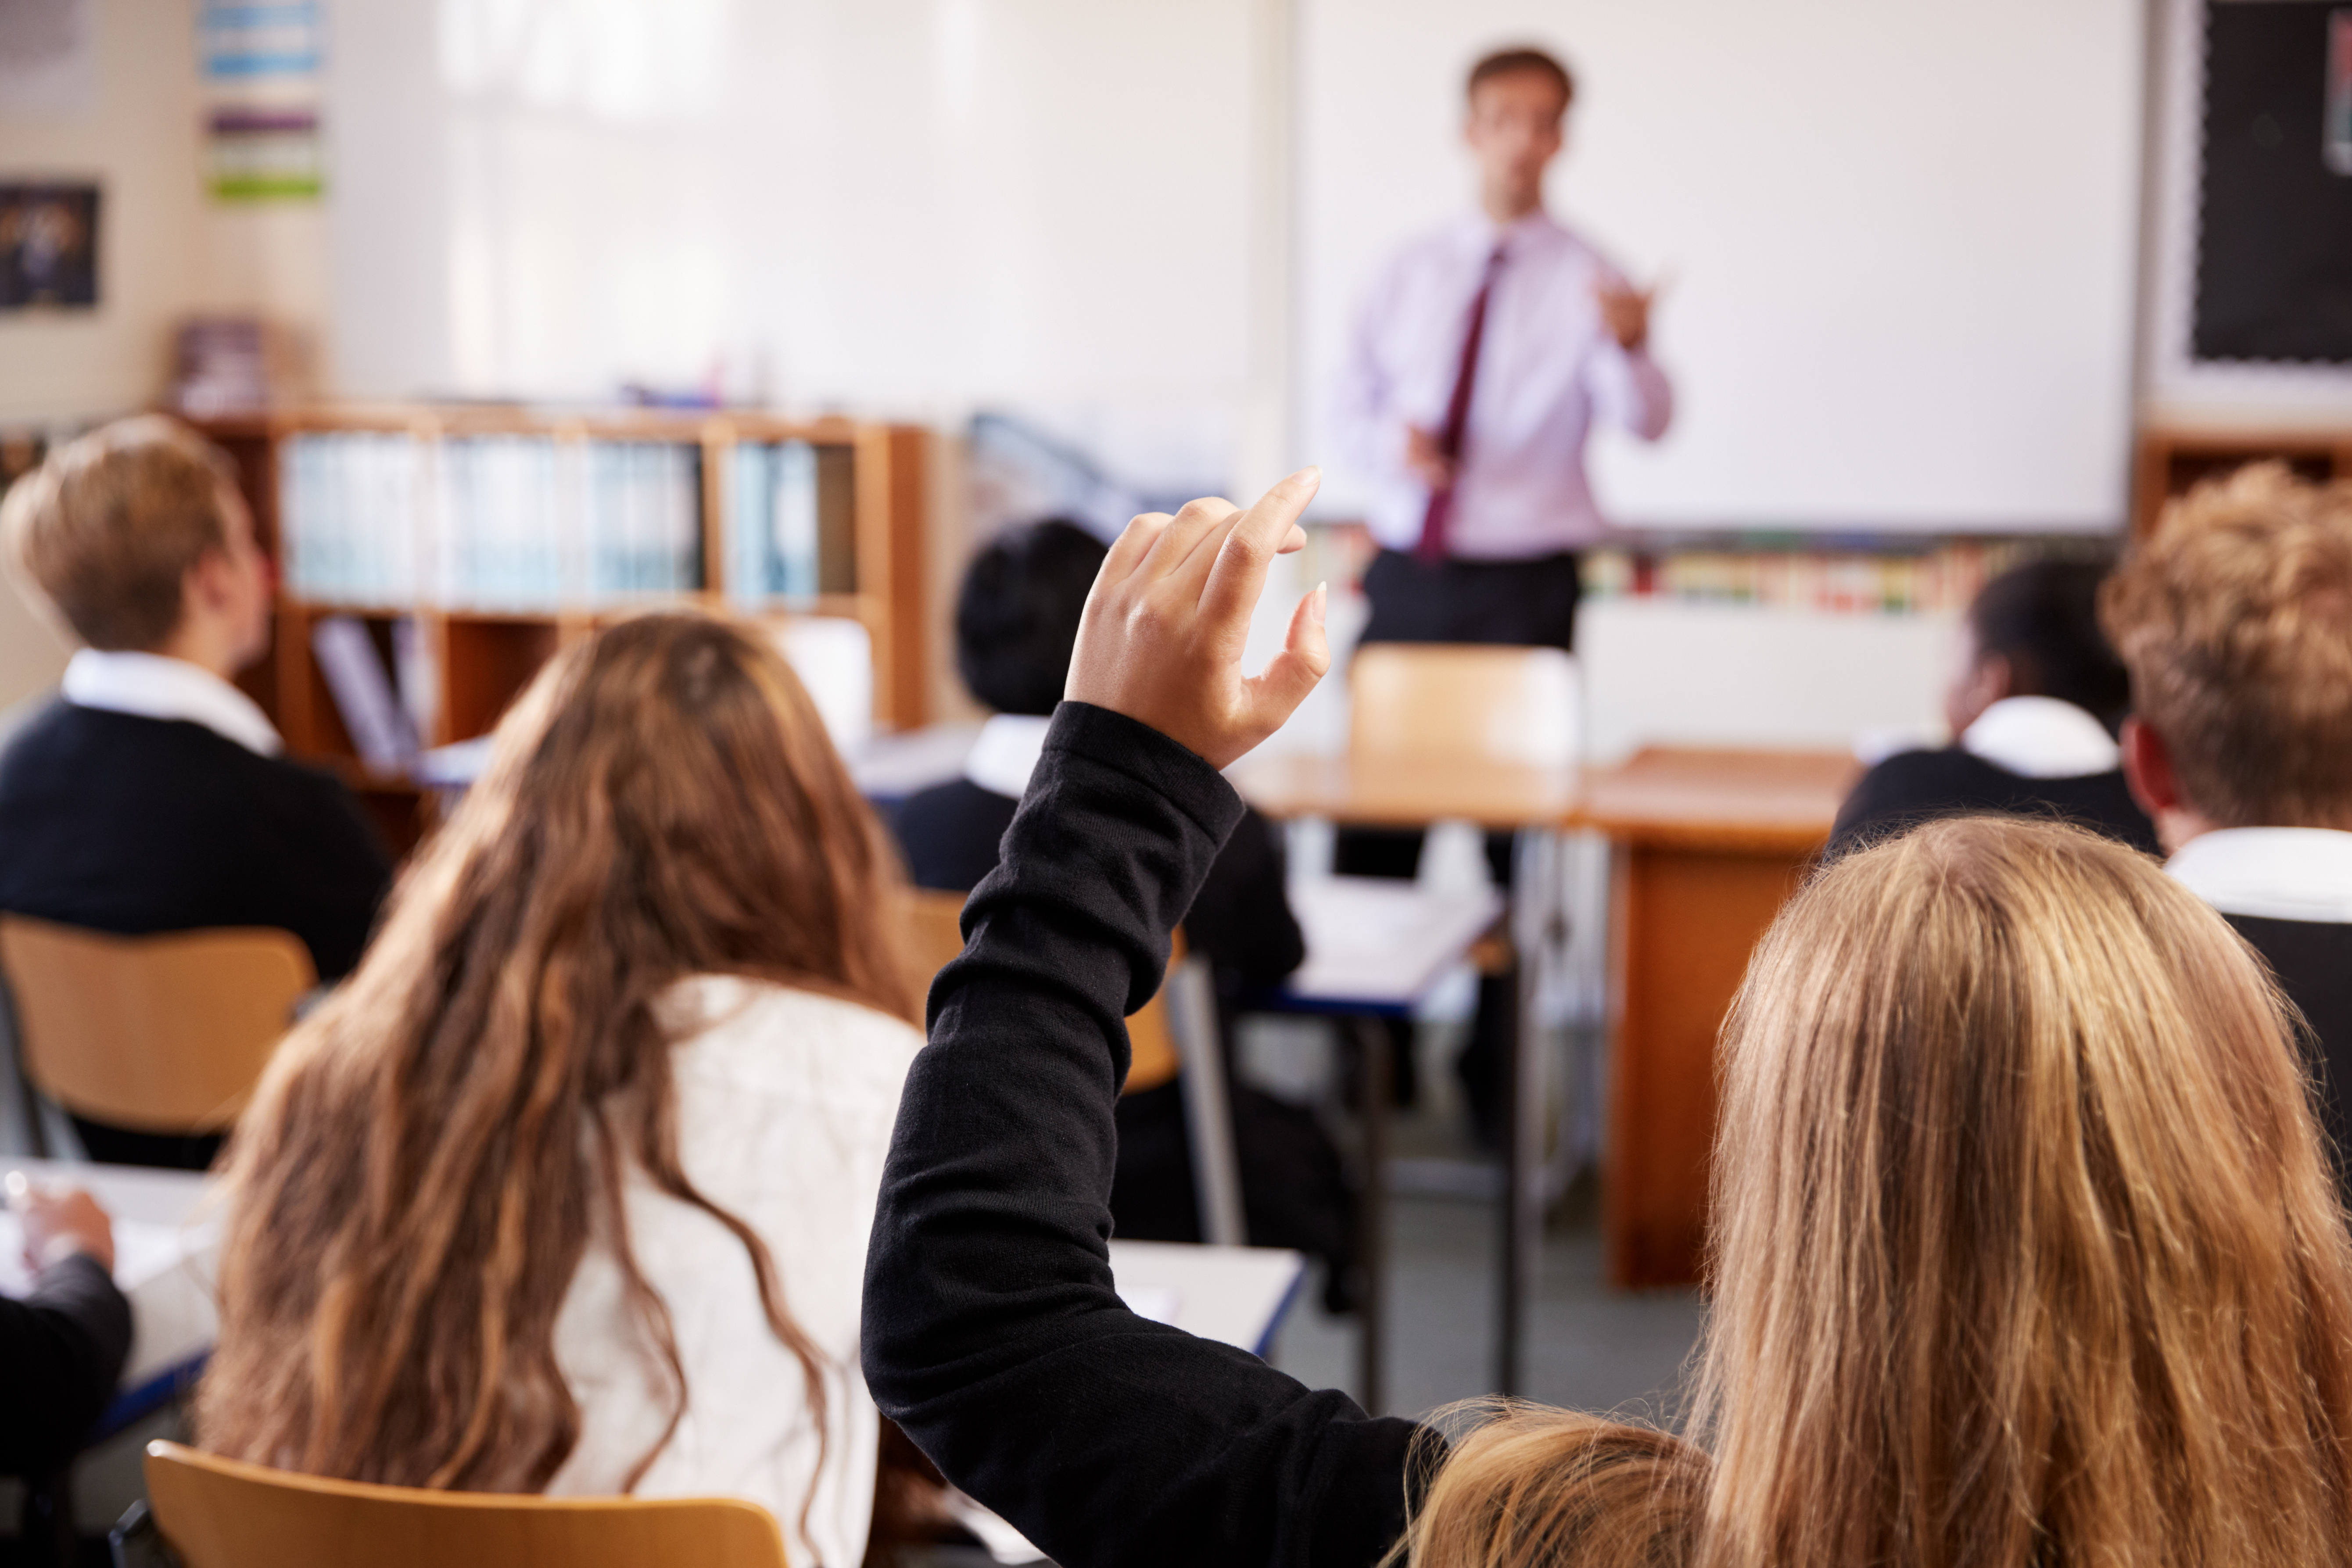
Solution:
<path fill-rule="evenodd" d="M 1616 844 L 1621 1009 L 1602 1173 L 1616 1286 L 1698 1281 L 1717 1032 L 1856 771 L 1844 752 L 1653 748 L 1585 778 L 1569 823 Z"/>

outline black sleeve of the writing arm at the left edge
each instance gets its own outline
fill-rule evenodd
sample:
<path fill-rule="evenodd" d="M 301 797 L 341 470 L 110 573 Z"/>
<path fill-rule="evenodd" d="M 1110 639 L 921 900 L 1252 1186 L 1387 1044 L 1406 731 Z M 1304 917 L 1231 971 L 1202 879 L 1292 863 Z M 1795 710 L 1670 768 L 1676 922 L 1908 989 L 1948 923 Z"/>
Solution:
<path fill-rule="evenodd" d="M 0 1298 L 0 1474 L 71 1458 L 113 1399 L 132 1349 L 132 1305 L 92 1258 L 45 1269 L 26 1300 Z"/>

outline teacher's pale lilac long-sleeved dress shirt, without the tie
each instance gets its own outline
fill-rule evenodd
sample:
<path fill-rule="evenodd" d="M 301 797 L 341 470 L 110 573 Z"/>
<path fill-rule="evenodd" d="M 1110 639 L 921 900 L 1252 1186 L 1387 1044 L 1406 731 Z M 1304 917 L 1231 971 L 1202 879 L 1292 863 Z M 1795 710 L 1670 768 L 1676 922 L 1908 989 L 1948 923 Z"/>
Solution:
<path fill-rule="evenodd" d="M 1672 418 L 1665 371 L 1602 322 L 1595 287 L 1625 280 L 1599 252 L 1541 212 L 1510 226 L 1458 219 L 1381 273 L 1341 376 L 1348 458 L 1371 480 L 1367 522 L 1390 550 L 1421 543 L 1430 491 L 1404 465 L 1406 428 L 1444 425 L 1470 303 L 1498 244 L 1446 552 L 1529 559 L 1592 543 L 1609 527 L 1585 482 L 1592 423 L 1658 440 Z"/>

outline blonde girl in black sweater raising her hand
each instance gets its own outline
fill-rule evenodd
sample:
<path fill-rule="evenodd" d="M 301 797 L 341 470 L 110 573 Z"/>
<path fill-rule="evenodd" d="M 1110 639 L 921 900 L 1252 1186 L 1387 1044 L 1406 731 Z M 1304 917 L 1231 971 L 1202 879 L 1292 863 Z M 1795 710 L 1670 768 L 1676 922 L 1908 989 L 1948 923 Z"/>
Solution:
<path fill-rule="evenodd" d="M 1317 590 L 1240 670 L 1312 489 L 1129 524 L 931 987 L 863 1359 L 941 1472 L 1063 1568 L 2352 1563 L 2352 1239 L 2286 1013 L 2077 827 L 1933 823 L 1766 936 L 1689 1439 L 1522 1410 L 1449 1453 L 1120 1302 L 1122 1016 L 1240 816 L 1218 769 L 1329 663 Z"/>

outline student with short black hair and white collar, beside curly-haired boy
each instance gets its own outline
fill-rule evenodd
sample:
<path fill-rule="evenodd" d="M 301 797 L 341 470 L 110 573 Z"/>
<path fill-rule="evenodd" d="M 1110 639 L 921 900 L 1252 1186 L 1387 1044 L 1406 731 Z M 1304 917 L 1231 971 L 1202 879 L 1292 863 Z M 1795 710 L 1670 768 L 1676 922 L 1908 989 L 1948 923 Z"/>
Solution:
<path fill-rule="evenodd" d="M 1938 816 L 2056 816 L 2157 853 L 2114 741 L 2131 677 L 2098 628 L 2098 562 L 2027 562 L 1985 583 L 1945 691 L 1952 745 L 1896 752 L 1837 813 L 1846 851 Z"/>

